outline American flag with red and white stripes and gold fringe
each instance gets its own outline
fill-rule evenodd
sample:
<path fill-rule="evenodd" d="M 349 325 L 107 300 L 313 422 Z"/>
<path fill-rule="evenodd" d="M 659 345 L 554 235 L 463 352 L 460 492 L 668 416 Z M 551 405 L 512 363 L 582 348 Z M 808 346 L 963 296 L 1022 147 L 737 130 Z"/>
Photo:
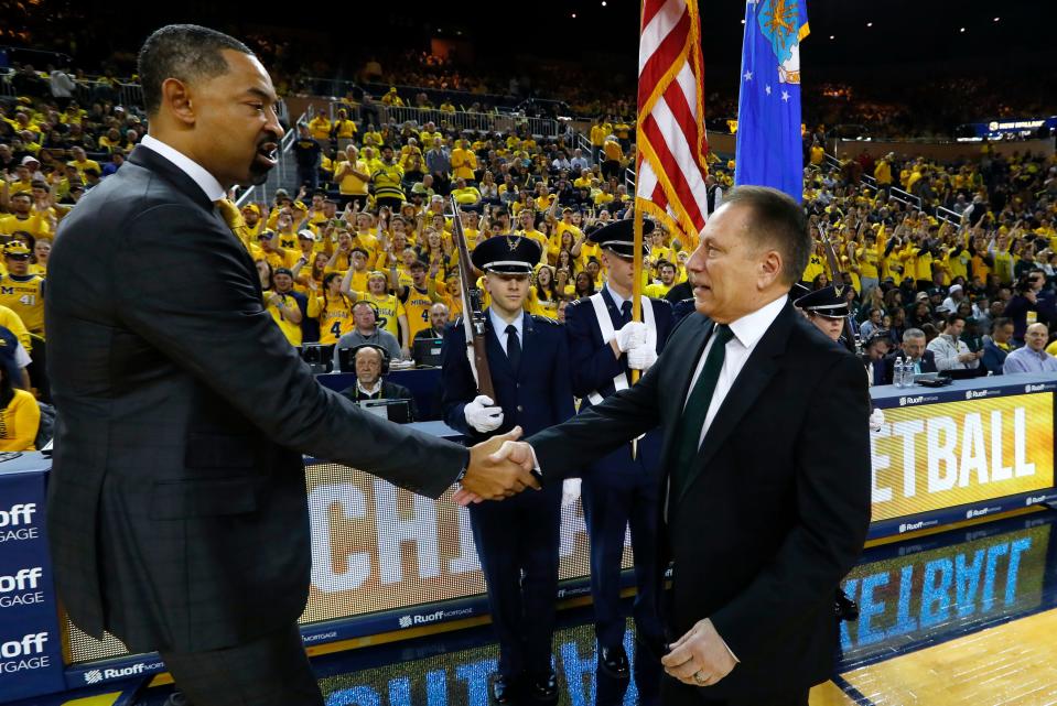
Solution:
<path fill-rule="evenodd" d="M 640 29 L 636 203 L 695 240 L 707 216 L 709 153 L 697 2 L 645 0 Z"/>

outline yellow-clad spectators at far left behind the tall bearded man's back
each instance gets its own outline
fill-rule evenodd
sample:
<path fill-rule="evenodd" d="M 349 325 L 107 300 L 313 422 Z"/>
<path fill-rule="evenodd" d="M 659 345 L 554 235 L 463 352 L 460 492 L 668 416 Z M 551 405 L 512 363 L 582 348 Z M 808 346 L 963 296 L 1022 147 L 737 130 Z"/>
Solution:
<path fill-rule="evenodd" d="M 58 222 L 114 174 L 147 132 L 142 112 L 116 105 L 116 84 L 75 99 L 76 75 L 21 67 L 19 95 L 0 99 L 0 449 L 41 443 L 53 419 L 44 361 L 47 259 Z M 84 88 L 84 85 L 80 85 Z M 8 340 L 17 340 L 17 345 Z M 34 402 L 32 390 L 43 404 Z M 29 398 L 26 395 L 30 395 Z M 31 415 L 31 412 L 34 414 Z"/>

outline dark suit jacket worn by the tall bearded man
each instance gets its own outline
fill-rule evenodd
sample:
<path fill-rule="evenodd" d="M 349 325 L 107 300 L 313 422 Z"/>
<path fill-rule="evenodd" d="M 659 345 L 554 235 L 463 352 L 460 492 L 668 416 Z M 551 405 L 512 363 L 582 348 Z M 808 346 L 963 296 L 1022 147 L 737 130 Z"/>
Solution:
<path fill-rule="evenodd" d="M 302 454 L 438 497 L 465 448 L 321 387 L 202 189 L 138 146 L 48 263 L 48 531 L 74 622 L 133 651 L 238 644 L 309 590 Z"/>

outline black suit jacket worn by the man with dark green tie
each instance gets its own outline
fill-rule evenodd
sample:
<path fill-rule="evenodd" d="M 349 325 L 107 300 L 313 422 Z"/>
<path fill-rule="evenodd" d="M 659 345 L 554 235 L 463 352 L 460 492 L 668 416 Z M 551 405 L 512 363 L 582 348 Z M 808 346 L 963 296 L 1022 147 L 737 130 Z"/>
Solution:
<path fill-rule="evenodd" d="M 660 424 L 667 497 L 675 432 L 712 328 L 688 316 L 638 384 L 531 437 L 544 480 Z M 658 566 L 675 563 L 669 638 L 711 618 L 741 661 L 710 698 L 829 678 L 833 590 L 870 523 L 869 414 L 862 363 L 787 304 L 724 399 L 686 489 L 672 490 L 666 513 L 661 503 Z"/>

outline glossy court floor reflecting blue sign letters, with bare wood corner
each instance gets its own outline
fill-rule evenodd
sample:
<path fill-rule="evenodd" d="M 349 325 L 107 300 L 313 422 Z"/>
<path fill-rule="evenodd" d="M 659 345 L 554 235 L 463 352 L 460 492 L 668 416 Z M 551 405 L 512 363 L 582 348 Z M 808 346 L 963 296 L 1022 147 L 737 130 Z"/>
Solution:
<path fill-rule="evenodd" d="M 1040 510 L 867 548 L 845 582 L 861 616 L 841 624 L 835 673 L 812 689 L 811 706 L 1057 705 L 1055 530 L 1057 511 Z M 591 706 L 614 685 L 595 675 L 590 607 L 560 620 L 559 703 Z M 326 706 L 488 706 L 497 658 L 482 626 L 315 656 L 313 665 Z M 161 706 L 169 689 L 66 703 Z M 635 706 L 634 683 L 612 703 Z"/>

